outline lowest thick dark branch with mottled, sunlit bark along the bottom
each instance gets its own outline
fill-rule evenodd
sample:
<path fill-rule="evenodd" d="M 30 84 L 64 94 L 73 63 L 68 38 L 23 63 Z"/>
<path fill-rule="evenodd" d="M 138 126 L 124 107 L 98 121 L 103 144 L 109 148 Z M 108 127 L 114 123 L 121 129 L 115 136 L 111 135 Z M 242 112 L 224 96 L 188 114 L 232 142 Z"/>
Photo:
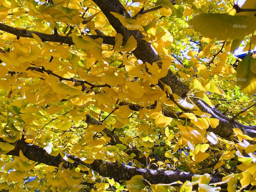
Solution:
<path fill-rule="evenodd" d="M 6 142 L 2 138 L 0 138 L 0 142 Z M 138 169 L 135 167 L 122 165 L 117 162 L 107 162 L 103 160 L 94 160 L 93 163 L 87 164 L 81 161 L 77 156 L 70 155 L 65 153 L 65 155 L 72 159 L 74 163 L 70 163 L 65 161 L 61 155 L 57 155 L 56 157 L 48 154 L 42 147 L 37 145 L 33 145 L 27 143 L 25 141 L 18 140 L 14 143 L 10 143 L 14 145 L 15 148 L 7 153 L 7 155 L 19 156 L 19 151 L 21 150 L 25 157 L 28 159 L 38 162 L 44 163 L 46 165 L 58 167 L 60 163 L 63 163 L 63 168 L 73 168 L 78 165 L 85 165 L 92 170 L 98 172 L 102 177 L 110 177 L 118 180 L 130 180 L 134 175 L 142 175 L 144 179 L 149 181 L 151 184 L 157 183 L 172 183 L 175 181 L 191 181 L 194 174 L 182 172 L 181 170 L 150 170 L 150 169 Z M 86 173 L 87 172 L 83 172 Z M 211 177 L 211 183 L 222 181 L 221 177 Z M 145 183 L 147 184 L 147 183 Z"/>

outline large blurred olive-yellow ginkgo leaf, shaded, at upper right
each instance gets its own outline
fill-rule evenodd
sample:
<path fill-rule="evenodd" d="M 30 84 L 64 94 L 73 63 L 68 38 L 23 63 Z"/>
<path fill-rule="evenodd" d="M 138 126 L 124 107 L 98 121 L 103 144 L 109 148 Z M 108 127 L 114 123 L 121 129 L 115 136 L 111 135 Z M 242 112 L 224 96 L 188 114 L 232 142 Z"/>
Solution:
<path fill-rule="evenodd" d="M 190 21 L 194 30 L 204 37 L 219 40 L 241 39 L 256 29 L 255 18 L 246 15 L 228 15 L 226 13 L 202 13 Z M 218 29 L 214 31 L 214 29 Z"/>

